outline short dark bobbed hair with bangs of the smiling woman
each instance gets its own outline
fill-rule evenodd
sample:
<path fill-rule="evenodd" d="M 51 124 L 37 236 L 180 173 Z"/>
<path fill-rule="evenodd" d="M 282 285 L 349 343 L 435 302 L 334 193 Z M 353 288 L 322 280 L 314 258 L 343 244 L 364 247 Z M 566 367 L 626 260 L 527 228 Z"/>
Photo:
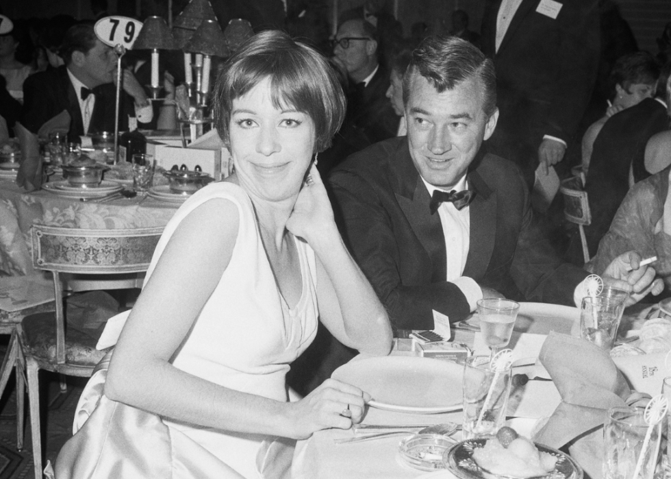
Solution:
<path fill-rule="evenodd" d="M 318 51 L 279 30 L 261 32 L 244 42 L 218 74 L 212 108 L 214 126 L 225 145 L 230 146 L 233 100 L 266 78 L 275 108 L 289 106 L 312 119 L 315 151 L 331 146 L 346 110 L 338 77 Z"/>

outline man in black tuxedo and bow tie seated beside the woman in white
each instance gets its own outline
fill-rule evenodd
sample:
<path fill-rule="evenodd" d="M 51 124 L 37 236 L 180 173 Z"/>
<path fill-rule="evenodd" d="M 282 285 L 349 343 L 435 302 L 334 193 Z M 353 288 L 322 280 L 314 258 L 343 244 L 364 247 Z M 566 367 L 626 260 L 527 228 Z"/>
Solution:
<path fill-rule="evenodd" d="M 579 301 L 587 273 L 535 228 L 519 169 L 484 151 L 498 120 L 492 61 L 465 40 L 429 37 L 413 52 L 403 101 L 407 138 L 355 153 L 329 178 L 344 239 L 394 326 L 458 321 L 483 297 Z M 605 282 L 634 300 L 659 294 L 639 260 L 618 257 Z"/>

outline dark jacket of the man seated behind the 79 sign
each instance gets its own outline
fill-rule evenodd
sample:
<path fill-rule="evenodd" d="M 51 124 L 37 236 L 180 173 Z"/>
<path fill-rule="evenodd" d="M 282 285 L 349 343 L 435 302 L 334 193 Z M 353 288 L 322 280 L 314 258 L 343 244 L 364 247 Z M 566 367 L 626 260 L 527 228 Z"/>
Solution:
<path fill-rule="evenodd" d="M 88 132 L 114 132 L 116 109 L 116 87 L 104 84 L 93 88 L 96 100 Z M 121 92 L 119 110 L 119 130 L 128 129 L 128 115 L 135 114 L 133 100 L 127 93 Z M 21 124 L 31 132 L 37 133 L 42 125 L 54 116 L 67 110 L 71 116 L 68 137 L 78 140 L 84 134 L 84 120 L 81 118 L 79 101 L 75 87 L 70 81 L 65 66 L 35 73 L 23 83 L 23 112 Z"/>

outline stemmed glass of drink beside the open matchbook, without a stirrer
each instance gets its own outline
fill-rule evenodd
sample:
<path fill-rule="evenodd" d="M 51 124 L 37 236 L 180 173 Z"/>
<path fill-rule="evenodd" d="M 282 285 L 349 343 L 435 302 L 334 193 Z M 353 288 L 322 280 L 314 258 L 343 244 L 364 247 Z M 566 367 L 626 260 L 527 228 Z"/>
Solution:
<path fill-rule="evenodd" d="M 506 346 L 510 341 L 520 304 L 494 297 L 480 299 L 477 305 L 480 332 L 485 344 L 490 347 L 490 358 L 494 358 L 498 348 Z"/>

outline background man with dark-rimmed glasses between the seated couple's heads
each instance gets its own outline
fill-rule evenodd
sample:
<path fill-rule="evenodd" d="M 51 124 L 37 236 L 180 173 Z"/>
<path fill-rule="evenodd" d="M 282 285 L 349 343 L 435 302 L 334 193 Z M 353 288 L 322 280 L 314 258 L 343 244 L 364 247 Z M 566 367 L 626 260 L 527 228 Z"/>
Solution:
<path fill-rule="evenodd" d="M 398 129 L 398 116 L 385 97 L 389 72 L 379 63 L 377 46 L 377 31 L 364 19 L 342 23 L 333 40 L 334 61 L 347 72 L 351 87 L 345 122 L 369 144 L 392 138 Z"/>

